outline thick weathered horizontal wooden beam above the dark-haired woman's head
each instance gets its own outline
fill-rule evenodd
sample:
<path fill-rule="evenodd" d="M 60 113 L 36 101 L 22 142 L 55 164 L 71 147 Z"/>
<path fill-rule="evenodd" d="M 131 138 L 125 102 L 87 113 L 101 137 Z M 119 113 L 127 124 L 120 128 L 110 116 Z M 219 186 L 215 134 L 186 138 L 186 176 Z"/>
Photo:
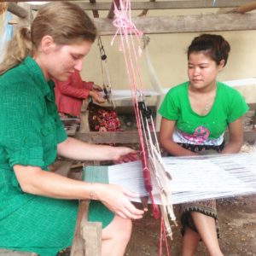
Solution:
<path fill-rule="evenodd" d="M 113 35 L 116 32 L 112 20 L 94 21 L 100 35 Z M 256 30 L 256 14 L 135 17 L 133 22 L 137 29 L 146 34 Z"/>

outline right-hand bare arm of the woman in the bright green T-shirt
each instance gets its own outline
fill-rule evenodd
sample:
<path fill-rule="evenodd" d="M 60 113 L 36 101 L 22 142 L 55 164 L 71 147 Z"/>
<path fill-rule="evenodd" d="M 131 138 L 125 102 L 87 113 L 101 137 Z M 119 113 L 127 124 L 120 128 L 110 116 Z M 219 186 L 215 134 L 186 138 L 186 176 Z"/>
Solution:
<path fill-rule="evenodd" d="M 229 124 L 230 139 L 221 154 L 238 153 L 243 143 L 242 117 Z"/>

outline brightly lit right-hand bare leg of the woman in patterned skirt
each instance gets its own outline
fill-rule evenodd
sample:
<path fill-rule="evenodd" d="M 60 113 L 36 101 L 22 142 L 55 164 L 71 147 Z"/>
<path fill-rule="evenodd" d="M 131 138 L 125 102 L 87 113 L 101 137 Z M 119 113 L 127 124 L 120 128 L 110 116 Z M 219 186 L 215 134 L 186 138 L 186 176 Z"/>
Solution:
<path fill-rule="evenodd" d="M 201 212 L 191 212 L 195 227 L 201 236 L 201 240 L 207 247 L 211 256 L 223 256 L 218 245 L 218 236 L 216 232 L 215 219 L 202 214 Z"/>

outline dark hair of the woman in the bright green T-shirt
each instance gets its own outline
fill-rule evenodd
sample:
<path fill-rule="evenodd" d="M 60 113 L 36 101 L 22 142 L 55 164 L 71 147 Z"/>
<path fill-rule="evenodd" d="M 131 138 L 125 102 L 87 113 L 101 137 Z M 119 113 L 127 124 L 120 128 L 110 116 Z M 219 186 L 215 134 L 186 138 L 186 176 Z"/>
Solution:
<path fill-rule="evenodd" d="M 191 53 L 200 51 L 209 55 L 217 65 L 224 60 L 225 66 L 230 53 L 230 44 L 220 35 L 201 34 L 194 38 L 189 45 L 188 59 Z"/>

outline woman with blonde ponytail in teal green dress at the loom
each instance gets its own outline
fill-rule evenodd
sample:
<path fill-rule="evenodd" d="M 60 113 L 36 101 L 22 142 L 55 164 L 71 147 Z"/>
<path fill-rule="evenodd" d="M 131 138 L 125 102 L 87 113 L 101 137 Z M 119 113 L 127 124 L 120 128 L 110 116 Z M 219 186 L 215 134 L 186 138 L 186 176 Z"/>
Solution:
<path fill-rule="evenodd" d="M 56 154 L 120 161 L 137 155 L 67 137 L 56 111 L 52 79 L 81 71 L 95 38 L 96 27 L 79 6 L 55 2 L 9 44 L 0 65 L 0 247 L 54 256 L 71 245 L 78 200 L 90 199 L 89 220 L 102 222 L 102 255 L 123 255 L 131 219 L 143 217 L 129 201 L 131 191 L 48 172 Z"/>

